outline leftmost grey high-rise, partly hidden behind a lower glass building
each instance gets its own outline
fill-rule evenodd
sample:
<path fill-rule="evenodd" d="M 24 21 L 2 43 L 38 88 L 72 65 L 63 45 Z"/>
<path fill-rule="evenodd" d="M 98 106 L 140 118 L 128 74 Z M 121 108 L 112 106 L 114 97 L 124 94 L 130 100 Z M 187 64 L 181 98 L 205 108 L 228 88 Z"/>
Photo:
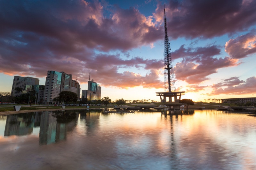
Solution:
<path fill-rule="evenodd" d="M 39 85 L 39 79 L 32 77 L 14 76 L 11 96 L 19 97 L 21 95 L 21 91 L 17 91 L 15 89 L 18 87 L 22 88 L 22 90 L 25 90 L 26 85 Z"/>

